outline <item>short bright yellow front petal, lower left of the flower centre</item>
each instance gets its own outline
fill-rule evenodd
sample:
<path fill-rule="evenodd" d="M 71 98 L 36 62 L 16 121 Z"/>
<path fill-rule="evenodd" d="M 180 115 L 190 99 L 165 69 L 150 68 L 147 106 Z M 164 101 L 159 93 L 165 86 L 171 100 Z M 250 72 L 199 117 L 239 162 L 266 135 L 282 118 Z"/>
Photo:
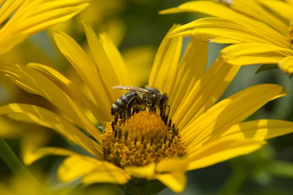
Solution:
<path fill-rule="evenodd" d="M 92 172 L 100 165 L 100 161 L 89 156 L 73 155 L 67 157 L 58 168 L 58 178 L 69 182 Z"/>

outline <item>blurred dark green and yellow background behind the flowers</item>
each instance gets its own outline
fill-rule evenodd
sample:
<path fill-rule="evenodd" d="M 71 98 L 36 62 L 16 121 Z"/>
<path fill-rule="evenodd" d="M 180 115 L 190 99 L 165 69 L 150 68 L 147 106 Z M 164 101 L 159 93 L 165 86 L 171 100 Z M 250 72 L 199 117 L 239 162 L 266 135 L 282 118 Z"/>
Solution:
<path fill-rule="evenodd" d="M 141 74 L 137 80 L 141 86 L 147 82 L 156 49 L 174 23 L 185 24 L 192 20 L 208 17 L 202 14 L 183 13 L 175 15 L 159 15 L 163 9 L 177 6 L 182 0 L 92 0 L 92 4 L 83 13 L 68 22 L 53 27 L 54 30 L 64 31 L 86 48 L 85 35 L 81 20 L 90 23 L 97 33 L 106 31 L 119 47 L 126 64 L 133 74 Z M 207 8 L 209 9 L 209 8 Z M 0 63 L 18 63 L 25 65 L 28 62 L 39 62 L 50 65 L 61 71 L 69 78 L 75 79 L 76 73 L 71 73 L 69 63 L 56 49 L 51 37 L 51 32 L 41 32 L 11 52 L 0 56 Z M 184 38 L 184 49 L 190 38 Z M 219 50 L 225 45 L 209 43 L 208 67 L 218 56 Z M 29 49 L 25 49 L 29 48 Z M 182 53 L 184 52 L 184 49 Z M 13 58 L 15 55 L 20 58 Z M 135 56 L 135 59 L 134 59 Z M 230 87 L 223 95 L 226 98 L 235 92 L 259 83 L 280 84 L 288 91 L 292 91 L 292 79 L 280 70 L 254 72 L 259 65 L 242 67 Z M 0 103 L 25 102 L 34 103 L 48 109 L 54 109 L 46 100 L 27 94 L 21 89 L 16 89 L 10 81 L 2 78 L 0 84 Z M 260 118 L 274 118 L 291 120 L 293 118 L 293 94 L 270 101 L 263 108 L 253 114 L 248 120 Z M 251 97 L 253 98 L 253 97 Z M 34 128 L 34 127 L 30 127 Z M 261 150 L 231 159 L 207 168 L 190 171 L 187 173 L 188 185 L 183 195 L 292 195 L 293 194 L 293 135 L 278 137 L 269 141 Z M 7 139 L 16 154 L 21 156 L 22 141 L 17 136 Z M 80 150 L 68 143 L 57 134 L 48 139 L 49 145 L 67 147 Z M 42 170 L 48 175 L 49 182 L 54 187 L 75 185 L 75 183 L 61 184 L 56 180 L 56 171 L 62 157 L 45 157 L 32 166 Z M 53 163 L 52 163 L 53 162 Z M 292 164 L 291 164 L 292 163 Z M 0 159 L 0 180 L 5 181 L 11 172 Z M 121 194 L 111 184 L 96 184 L 95 194 Z M 168 189 L 162 195 L 172 194 Z"/>

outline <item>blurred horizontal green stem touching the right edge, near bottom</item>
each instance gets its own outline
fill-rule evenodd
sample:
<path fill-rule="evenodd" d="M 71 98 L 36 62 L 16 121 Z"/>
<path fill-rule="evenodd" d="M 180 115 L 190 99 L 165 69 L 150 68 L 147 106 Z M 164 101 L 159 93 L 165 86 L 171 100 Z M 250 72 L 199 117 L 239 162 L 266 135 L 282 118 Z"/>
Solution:
<path fill-rule="evenodd" d="M 268 171 L 276 176 L 293 178 L 293 163 L 286 161 L 273 161 L 269 166 Z"/>

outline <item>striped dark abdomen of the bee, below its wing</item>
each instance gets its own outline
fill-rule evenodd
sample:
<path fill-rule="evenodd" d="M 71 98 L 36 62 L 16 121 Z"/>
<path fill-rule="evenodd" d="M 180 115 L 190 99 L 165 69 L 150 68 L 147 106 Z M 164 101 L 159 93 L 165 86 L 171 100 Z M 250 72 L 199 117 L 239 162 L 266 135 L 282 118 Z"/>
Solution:
<path fill-rule="evenodd" d="M 135 91 L 129 91 L 120 98 L 118 98 L 111 107 L 111 115 L 125 112 L 127 109 L 130 109 L 132 105 L 136 102 L 137 96 L 138 94 Z"/>

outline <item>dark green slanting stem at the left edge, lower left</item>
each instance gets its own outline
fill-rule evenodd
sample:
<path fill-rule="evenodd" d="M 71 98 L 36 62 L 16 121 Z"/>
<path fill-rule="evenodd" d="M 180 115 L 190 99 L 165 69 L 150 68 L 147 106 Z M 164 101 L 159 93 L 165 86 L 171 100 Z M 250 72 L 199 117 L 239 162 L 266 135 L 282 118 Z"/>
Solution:
<path fill-rule="evenodd" d="M 30 174 L 2 137 L 0 137 L 0 158 L 13 173 L 17 174 L 21 171 L 22 173 Z"/>

